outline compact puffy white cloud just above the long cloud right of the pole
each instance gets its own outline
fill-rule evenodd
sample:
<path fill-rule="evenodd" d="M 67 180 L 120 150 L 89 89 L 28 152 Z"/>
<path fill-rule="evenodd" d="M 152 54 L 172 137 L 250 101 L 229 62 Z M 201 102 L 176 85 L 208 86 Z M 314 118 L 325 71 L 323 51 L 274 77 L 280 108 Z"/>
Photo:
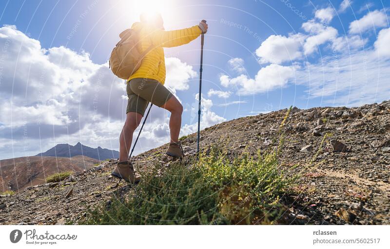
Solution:
<path fill-rule="evenodd" d="M 262 63 L 282 63 L 302 57 L 301 44 L 304 36 L 301 34 L 285 37 L 271 35 L 260 47 L 256 49 L 256 55 Z"/>

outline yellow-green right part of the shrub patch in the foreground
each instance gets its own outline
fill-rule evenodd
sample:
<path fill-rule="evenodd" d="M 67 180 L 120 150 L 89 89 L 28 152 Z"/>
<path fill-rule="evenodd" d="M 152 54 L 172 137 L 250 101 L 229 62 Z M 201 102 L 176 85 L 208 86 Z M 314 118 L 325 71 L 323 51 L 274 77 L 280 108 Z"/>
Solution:
<path fill-rule="evenodd" d="M 280 168 L 276 152 L 262 156 L 258 151 L 257 159 L 243 153 L 230 163 L 226 152 L 214 150 L 200 164 L 206 184 L 221 189 L 219 211 L 233 224 L 277 219 L 278 214 L 269 211 L 281 210 L 279 198 L 296 179 Z"/>

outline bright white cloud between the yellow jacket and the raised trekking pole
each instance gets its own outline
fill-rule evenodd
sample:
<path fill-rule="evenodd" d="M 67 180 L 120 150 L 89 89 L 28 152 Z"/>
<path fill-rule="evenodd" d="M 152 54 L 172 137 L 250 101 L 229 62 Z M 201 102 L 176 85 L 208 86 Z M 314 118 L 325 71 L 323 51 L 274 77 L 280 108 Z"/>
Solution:
<path fill-rule="evenodd" d="M 165 85 L 174 90 L 188 90 L 188 82 L 197 76 L 191 65 L 175 57 L 165 58 L 167 77 Z"/>

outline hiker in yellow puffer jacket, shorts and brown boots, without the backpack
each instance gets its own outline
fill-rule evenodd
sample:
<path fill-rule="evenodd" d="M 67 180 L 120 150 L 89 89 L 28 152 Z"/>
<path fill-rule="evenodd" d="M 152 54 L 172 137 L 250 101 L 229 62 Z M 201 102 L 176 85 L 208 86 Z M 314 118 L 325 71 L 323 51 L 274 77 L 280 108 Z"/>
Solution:
<path fill-rule="evenodd" d="M 119 163 L 112 175 L 131 183 L 137 183 L 140 176 L 135 174 L 128 155 L 133 132 L 140 124 L 149 102 L 171 112 L 169 120 L 171 141 L 167 155 L 175 158 L 184 156 L 179 142 L 183 106 L 164 87 L 166 71 L 163 47 L 175 47 L 189 43 L 202 33 L 206 33 L 208 25 L 201 21 L 190 28 L 164 31 L 160 14 L 141 14 L 140 22 L 135 22 L 131 29 L 139 31 L 138 49 L 141 52 L 147 51 L 147 53 L 139 68 L 127 80 L 126 121 L 119 136 Z"/>

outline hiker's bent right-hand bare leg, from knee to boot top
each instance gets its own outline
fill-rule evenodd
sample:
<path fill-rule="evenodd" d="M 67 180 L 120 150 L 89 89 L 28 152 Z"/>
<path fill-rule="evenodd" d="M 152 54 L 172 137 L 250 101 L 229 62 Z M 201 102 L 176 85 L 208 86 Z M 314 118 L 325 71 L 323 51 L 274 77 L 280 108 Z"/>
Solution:
<path fill-rule="evenodd" d="M 171 142 L 179 141 L 179 133 L 181 127 L 181 114 L 183 113 L 183 106 L 176 99 L 175 96 L 171 97 L 167 103 L 160 106 L 171 112 L 171 118 L 169 119 L 169 129 L 171 132 Z"/>

